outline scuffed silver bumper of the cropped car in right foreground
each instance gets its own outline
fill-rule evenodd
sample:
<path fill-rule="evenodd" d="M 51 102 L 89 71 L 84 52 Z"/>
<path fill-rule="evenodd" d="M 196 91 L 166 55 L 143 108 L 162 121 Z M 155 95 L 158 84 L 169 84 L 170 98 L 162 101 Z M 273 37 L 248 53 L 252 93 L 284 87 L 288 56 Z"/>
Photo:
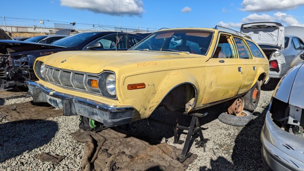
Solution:
<path fill-rule="evenodd" d="M 279 128 L 271 119 L 269 111 L 261 131 L 261 141 L 265 170 L 300 171 L 304 169 L 303 140 Z"/>

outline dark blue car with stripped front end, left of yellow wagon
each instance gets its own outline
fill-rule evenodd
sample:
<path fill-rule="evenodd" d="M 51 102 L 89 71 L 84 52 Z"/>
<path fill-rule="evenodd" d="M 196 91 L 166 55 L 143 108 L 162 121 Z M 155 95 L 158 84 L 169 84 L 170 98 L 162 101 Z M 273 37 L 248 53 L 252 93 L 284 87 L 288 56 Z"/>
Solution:
<path fill-rule="evenodd" d="M 37 80 L 33 64 L 38 57 L 60 51 L 127 50 L 142 39 L 143 37 L 127 33 L 89 32 L 64 37 L 52 44 L 33 43 L 26 40 L 0 40 L 0 90 L 25 86 L 25 81 Z M 43 40 L 50 41 L 45 38 L 39 41 Z M 119 42 L 116 43 L 116 40 Z"/>

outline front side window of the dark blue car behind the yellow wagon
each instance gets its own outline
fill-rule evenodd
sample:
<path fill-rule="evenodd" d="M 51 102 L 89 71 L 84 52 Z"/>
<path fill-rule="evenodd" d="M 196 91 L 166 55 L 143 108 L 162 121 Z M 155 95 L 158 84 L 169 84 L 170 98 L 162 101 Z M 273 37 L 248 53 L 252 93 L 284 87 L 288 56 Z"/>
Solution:
<path fill-rule="evenodd" d="M 101 49 L 127 49 L 126 46 L 126 35 L 111 35 L 103 37 L 102 39 L 97 40 L 97 42 L 102 44 Z"/>

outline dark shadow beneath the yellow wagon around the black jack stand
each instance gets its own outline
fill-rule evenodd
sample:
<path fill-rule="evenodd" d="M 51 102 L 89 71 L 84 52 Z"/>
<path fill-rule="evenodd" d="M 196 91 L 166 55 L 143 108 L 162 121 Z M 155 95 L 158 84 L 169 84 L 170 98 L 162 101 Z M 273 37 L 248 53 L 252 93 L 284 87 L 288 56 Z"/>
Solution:
<path fill-rule="evenodd" d="M 216 120 L 219 114 L 225 112 L 227 107 L 231 102 L 225 102 L 218 105 L 210 106 L 206 109 L 198 110 L 198 113 L 208 113 L 207 116 L 199 118 L 199 122 L 201 125 L 211 122 L 212 120 Z M 163 106 L 158 107 L 149 118 L 154 120 L 160 120 L 162 122 L 174 123 L 174 112 L 170 112 L 166 110 Z M 189 127 L 192 117 L 184 114 L 178 115 L 178 124 L 181 126 Z M 132 123 L 132 129 L 128 130 L 128 134 L 130 136 L 134 136 L 136 138 L 142 139 L 144 141 L 149 142 L 150 144 L 157 144 L 158 141 L 162 138 L 171 138 L 174 136 L 173 127 L 159 124 L 150 121 L 149 119 L 138 120 Z M 208 129 L 208 127 L 202 126 L 202 129 Z M 119 130 L 118 130 L 119 131 Z M 183 132 L 183 130 L 178 130 L 178 139 L 181 134 L 187 134 Z M 194 142 L 194 139 L 199 135 L 195 135 L 194 138 L 190 141 L 190 147 Z M 208 137 L 205 137 L 208 138 Z"/>

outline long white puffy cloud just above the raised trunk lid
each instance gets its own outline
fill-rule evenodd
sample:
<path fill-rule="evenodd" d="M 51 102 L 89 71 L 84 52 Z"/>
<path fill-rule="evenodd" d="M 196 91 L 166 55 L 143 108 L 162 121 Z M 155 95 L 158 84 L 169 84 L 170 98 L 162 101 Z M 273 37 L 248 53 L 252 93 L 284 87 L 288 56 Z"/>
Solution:
<path fill-rule="evenodd" d="M 276 12 L 273 14 L 273 16 L 270 16 L 268 14 L 261 14 L 258 15 L 256 13 L 250 14 L 246 17 L 244 17 L 240 23 L 224 23 L 223 21 L 219 22 L 217 25 L 228 27 L 228 28 L 237 28 L 239 29 L 240 26 L 244 23 L 254 23 L 254 22 L 279 22 L 282 24 L 285 24 L 286 26 L 303 26 L 304 24 L 301 24 L 297 19 L 295 19 L 292 15 L 288 15 L 286 13 L 282 12 Z"/>

